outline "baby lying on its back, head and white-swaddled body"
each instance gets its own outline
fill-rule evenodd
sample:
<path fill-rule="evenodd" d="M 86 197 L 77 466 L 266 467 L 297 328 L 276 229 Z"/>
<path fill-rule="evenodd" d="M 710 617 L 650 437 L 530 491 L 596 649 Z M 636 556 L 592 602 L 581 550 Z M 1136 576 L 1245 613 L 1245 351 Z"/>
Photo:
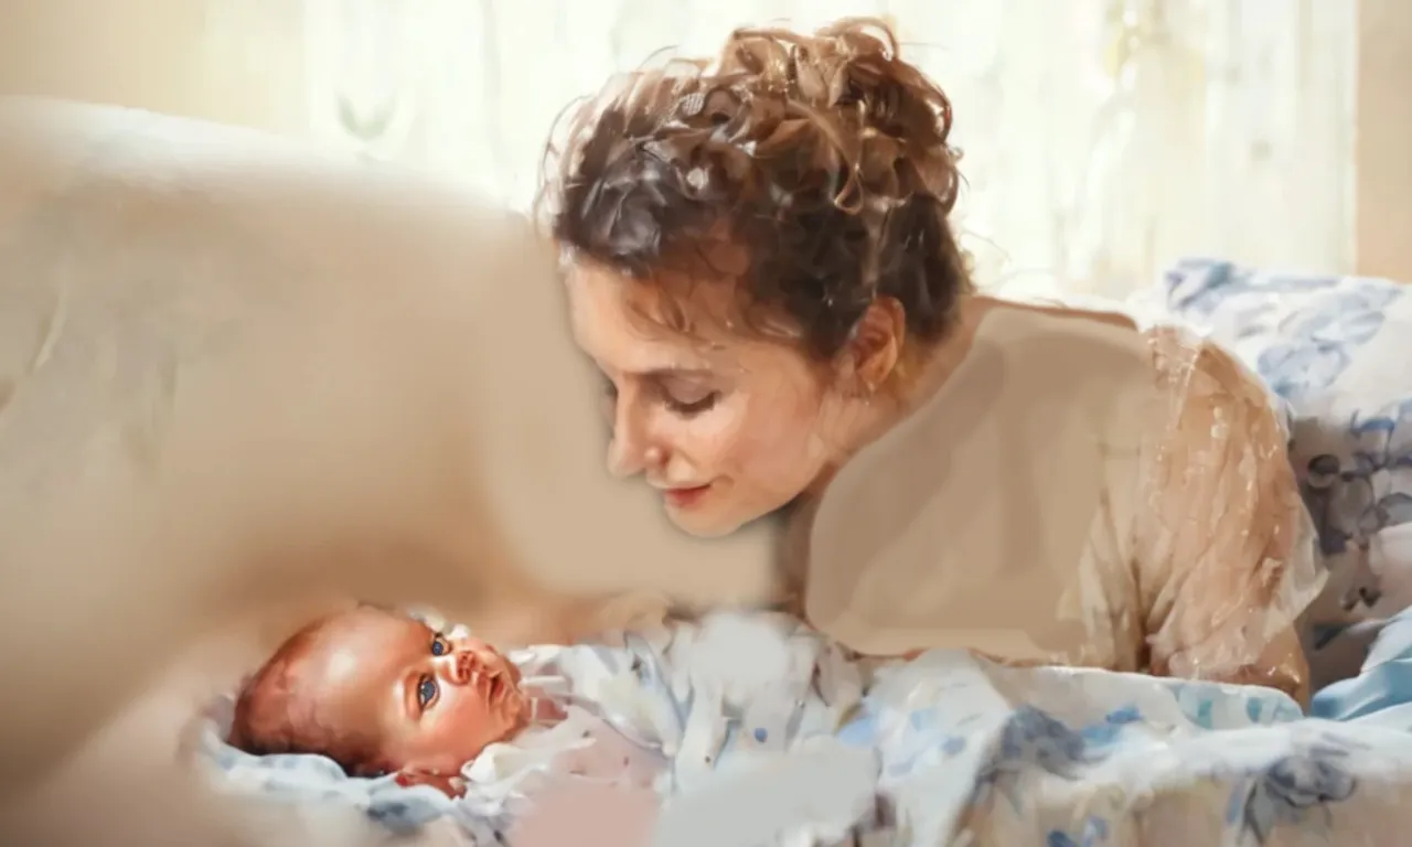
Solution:
<path fill-rule="evenodd" d="M 669 791 L 734 754 L 832 734 L 860 696 L 851 659 L 782 617 L 726 615 L 511 661 L 363 606 L 281 645 L 243 686 L 229 740 L 452 796 L 498 750 L 537 744 L 552 772 L 659 791 L 666 776 Z"/>

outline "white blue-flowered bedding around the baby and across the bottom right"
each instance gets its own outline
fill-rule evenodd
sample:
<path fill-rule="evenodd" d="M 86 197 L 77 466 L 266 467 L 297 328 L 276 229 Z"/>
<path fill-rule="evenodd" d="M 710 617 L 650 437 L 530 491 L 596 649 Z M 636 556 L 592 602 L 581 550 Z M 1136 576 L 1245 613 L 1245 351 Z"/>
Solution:
<path fill-rule="evenodd" d="M 1412 733 L 1306 719 L 1274 689 L 1001 668 L 959 651 L 870 669 L 779 620 L 726 617 L 626 644 L 531 654 L 555 656 L 582 686 L 572 704 L 583 720 L 662 754 L 659 826 L 672 844 L 1363 846 L 1405 831 Z M 487 751 L 452 800 L 347 779 L 315 757 L 246 757 L 220 743 L 219 720 L 205 730 L 227 788 L 352 803 L 401 829 L 449 816 L 480 844 L 513 817 L 511 803 L 497 806 L 505 789 L 544 762 L 515 745 L 504 759 Z M 840 748 L 864 754 L 849 765 L 867 769 L 858 789 L 826 809 L 775 803 L 768 837 L 741 830 L 740 809 L 805 782 L 753 772 L 844 762 L 816 755 Z"/>

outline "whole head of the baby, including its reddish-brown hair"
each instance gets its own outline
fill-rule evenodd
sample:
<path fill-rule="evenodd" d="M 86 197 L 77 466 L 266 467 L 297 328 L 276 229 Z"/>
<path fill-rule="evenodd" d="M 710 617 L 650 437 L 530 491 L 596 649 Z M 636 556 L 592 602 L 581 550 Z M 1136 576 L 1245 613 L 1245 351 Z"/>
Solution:
<path fill-rule="evenodd" d="M 518 671 L 490 645 L 361 606 L 275 651 L 240 692 L 230 743 L 326 755 L 354 776 L 456 774 L 528 711 Z"/>

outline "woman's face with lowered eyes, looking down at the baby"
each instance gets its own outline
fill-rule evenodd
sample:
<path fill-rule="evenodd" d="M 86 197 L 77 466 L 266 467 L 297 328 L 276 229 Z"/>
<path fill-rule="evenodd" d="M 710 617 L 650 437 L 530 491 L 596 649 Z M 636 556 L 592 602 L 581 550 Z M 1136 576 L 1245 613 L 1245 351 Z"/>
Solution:
<path fill-rule="evenodd" d="M 729 288 L 699 287 L 682 306 L 723 315 Z M 784 507 L 833 456 L 844 401 L 799 350 L 714 320 L 674 332 L 651 319 L 652 287 L 596 267 L 570 272 L 569 302 L 606 377 L 609 467 L 642 474 L 686 532 L 724 535 Z"/>

